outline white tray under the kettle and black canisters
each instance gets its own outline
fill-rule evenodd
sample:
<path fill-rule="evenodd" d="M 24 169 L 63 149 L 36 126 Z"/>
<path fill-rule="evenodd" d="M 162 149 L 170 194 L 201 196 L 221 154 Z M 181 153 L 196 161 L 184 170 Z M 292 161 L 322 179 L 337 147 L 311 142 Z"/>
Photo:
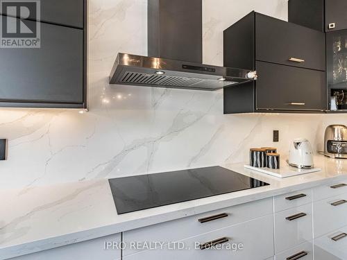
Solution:
<path fill-rule="evenodd" d="M 273 168 L 257 168 L 249 165 L 245 165 L 244 168 L 249 168 L 253 171 L 259 171 L 260 173 L 266 173 L 269 175 L 273 175 L 275 177 L 285 178 L 285 177 L 291 177 L 306 173 L 314 173 L 316 171 L 321 171 L 321 168 L 296 168 L 293 166 L 289 166 L 287 162 L 281 161 L 280 162 L 280 168 L 279 169 L 273 169 Z"/>

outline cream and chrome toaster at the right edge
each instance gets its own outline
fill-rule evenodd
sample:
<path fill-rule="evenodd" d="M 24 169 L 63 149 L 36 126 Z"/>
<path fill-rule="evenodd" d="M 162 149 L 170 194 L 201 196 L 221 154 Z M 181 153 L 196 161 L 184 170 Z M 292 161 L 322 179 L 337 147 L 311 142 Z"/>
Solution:
<path fill-rule="evenodd" d="M 346 125 L 328 125 L 325 129 L 324 155 L 331 158 L 347 158 Z"/>

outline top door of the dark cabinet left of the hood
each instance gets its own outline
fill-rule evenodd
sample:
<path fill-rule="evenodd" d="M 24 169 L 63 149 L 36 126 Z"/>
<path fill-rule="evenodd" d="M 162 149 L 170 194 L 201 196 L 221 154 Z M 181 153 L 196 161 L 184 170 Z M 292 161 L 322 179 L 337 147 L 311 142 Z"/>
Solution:
<path fill-rule="evenodd" d="M 41 0 L 40 21 L 83 28 L 84 5 L 85 0 Z M 7 15 L 7 10 L 2 10 L 1 15 Z M 37 20 L 37 17 L 31 13 L 28 19 Z"/>

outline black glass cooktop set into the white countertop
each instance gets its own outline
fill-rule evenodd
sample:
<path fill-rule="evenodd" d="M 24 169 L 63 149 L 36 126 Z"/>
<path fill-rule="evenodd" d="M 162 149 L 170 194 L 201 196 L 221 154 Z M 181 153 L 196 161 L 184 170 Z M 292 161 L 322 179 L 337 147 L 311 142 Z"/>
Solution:
<path fill-rule="evenodd" d="M 108 181 L 118 214 L 269 185 L 220 166 Z"/>

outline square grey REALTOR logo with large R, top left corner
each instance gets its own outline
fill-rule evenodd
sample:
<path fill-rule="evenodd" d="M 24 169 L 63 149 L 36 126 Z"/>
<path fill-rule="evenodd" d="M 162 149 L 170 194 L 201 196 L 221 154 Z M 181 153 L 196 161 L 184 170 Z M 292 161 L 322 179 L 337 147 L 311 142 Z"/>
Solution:
<path fill-rule="evenodd" d="M 0 48 L 40 48 L 40 0 L 0 0 Z"/>

